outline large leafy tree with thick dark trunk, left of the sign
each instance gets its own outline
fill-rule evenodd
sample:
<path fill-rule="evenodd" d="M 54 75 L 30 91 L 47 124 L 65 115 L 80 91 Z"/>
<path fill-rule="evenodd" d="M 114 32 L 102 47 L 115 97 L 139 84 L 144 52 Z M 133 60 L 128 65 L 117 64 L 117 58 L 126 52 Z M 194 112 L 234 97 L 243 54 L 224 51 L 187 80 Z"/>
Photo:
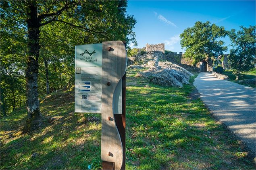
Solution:
<path fill-rule="evenodd" d="M 42 124 L 38 82 L 45 81 L 48 84 L 46 85 L 48 93 L 51 82 L 56 82 L 56 79 L 50 81 L 49 70 L 51 71 L 52 68 L 56 70 L 51 73 L 58 74 L 58 82 L 65 82 L 62 80 L 70 77 L 73 73 L 71 70 L 74 70 L 72 68 L 74 54 L 69 52 L 74 50 L 74 45 L 117 39 L 135 43 L 132 29 L 136 21 L 133 16 L 125 14 L 127 1 L 1 1 L 0 3 L 1 18 L 3 18 L 1 22 L 6 25 L 5 32 L 13 32 L 15 35 L 19 29 L 25 30 L 21 34 L 25 41 L 21 44 L 26 47 L 21 48 L 24 49 L 21 50 L 24 51 L 23 61 L 26 61 L 26 69 L 23 70 L 26 79 L 28 113 L 25 132 L 33 131 Z M 14 27 L 11 27 L 8 21 Z M 7 54 L 10 54 L 10 51 Z M 70 61 L 72 64 L 68 64 Z M 41 79 L 44 74 L 40 73 L 40 70 L 44 70 L 46 80 Z M 63 79 L 63 74 L 68 76 L 64 76 Z M 42 84 L 40 86 L 42 87 Z"/>

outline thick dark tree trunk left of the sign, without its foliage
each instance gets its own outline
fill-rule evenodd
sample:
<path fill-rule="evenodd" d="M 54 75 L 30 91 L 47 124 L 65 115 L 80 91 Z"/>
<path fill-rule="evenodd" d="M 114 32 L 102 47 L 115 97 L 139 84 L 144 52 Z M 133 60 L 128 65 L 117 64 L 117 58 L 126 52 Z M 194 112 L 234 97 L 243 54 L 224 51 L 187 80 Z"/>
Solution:
<path fill-rule="evenodd" d="M 39 109 L 38 100 L 38 57 L 39 57 L 39 27 L 40 21 L 37 18 L 36 1 L 30 1 L 27 19 L 28 28 L 28 47 L 29 55 L 27 57 L 26 69 L 26 95 L 27 95 L 27 121 L 24 128 L 24 133 L 33 131 L 42 125 L 42 115 Z"/>

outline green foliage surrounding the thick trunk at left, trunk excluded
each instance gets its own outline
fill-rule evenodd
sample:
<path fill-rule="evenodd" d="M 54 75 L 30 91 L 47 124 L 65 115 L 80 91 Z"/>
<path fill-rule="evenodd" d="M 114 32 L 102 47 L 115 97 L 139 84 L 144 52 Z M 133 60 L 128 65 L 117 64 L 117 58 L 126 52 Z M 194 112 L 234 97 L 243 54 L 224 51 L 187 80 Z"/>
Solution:
<path fill-rule="evenodd" d="M 74 84 L 75 45 L 121 40 L 134 43 L 136 20 L 126 14 L 127 1 L 1 1 L 1 115 L 26 102 L 28 56 L 27 11 L 37 6 L 40 27 L 39 96 L 46 94 L 48 63 L 50 92 Z M 58 16 L 46 16 L 70 4 Z M 51 22 L 50 22 L 51 21 Z M 48 24 L 45 24 L 48 22 Z"/>

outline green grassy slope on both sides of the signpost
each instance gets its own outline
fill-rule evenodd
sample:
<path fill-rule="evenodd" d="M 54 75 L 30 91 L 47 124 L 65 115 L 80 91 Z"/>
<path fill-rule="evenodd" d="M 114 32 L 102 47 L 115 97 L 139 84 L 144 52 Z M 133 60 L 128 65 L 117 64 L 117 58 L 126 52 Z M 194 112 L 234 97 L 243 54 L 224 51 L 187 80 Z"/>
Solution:
<path fill-rule="evenodd" d="M 193 86 L 167 88 L 127 70 L 127 169 L 255 169 L 240 141 L 215 121 Z M 99 114 L 74 113 L 74 92 L 41 101 L 49 123 L 20 135 L 25 109 L 1 120 L 1 169 L 101 168 Z M 37 156 L 31 158 L 33 153 Z"/>

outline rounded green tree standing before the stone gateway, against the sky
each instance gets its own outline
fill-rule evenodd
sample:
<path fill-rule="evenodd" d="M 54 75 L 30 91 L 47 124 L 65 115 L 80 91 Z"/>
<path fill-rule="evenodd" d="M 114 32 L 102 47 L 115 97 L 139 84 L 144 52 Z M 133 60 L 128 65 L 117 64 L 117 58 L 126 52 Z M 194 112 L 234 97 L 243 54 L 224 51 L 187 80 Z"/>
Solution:
<path fill-rule="evenodd" d="M 181 47 L 185 48 L 185 57 L 192 58 L 194 65 L 203 59 L 210 59 L 222 55 L 227 50 L 224 41 L 218 39 L 225 37 L 227 31 L 224 27 L 202 23 L 197 21 L 193 27 L 187 28 L 181 33 Z"/>

